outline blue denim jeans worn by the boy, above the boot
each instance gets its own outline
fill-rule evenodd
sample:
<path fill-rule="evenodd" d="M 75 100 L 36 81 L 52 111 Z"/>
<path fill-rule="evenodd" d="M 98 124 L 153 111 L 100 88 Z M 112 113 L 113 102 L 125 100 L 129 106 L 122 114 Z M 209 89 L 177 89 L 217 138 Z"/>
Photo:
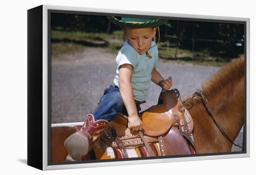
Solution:
<path fill-rule="evenodd" d="M 140 105 L 136 104 L 136 107 L 139 112 L 141 110 Z M 100 104 L 93 112 L 94 119 L 95 121 L 105 119 L 110 122 L 115 118 L 118 112 L 128 116 L 119 88 L 117 86 L 110 85 L 104 90 Z"/>

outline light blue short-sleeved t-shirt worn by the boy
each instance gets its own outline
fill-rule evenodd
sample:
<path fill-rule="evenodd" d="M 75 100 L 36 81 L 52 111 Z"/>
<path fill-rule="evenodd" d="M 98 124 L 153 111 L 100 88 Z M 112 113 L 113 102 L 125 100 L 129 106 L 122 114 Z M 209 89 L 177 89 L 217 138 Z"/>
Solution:
<path fill-rule="evenodd" d="M 155 42 L 151 42 L 151 47 Z M 151 59 L 146 54 L 140 55 L 126 40 L 116 56 L 117 69 L 114 83 L 119 87 L 119 67 L 122 64 L 130 64 L 133 66 L 133 74 L 131 85 L 133 87 L 133 94 L 135 100 L 143 101 L 147 99 L 148 89 L 151 84 L 151 71 L 156 67 L 158 61 L 157 45 L 148 50 L 148 54 L 152 56 Z"/>

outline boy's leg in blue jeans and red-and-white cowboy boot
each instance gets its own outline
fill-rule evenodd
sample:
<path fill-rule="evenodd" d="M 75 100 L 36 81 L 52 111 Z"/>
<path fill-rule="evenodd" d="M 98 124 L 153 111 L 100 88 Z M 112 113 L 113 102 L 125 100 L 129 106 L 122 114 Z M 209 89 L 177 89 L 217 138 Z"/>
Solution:
<path fill-rule="evenodd" d="M 107 129 L 109 122 L 118 112 L 126 114 L 119 88 L 110 86 L 105 89 L 100 105 L 88 117 L 80 131 L 67 138 L 64 145 L 67 148 L 70 160 L 81 160 Z"/>

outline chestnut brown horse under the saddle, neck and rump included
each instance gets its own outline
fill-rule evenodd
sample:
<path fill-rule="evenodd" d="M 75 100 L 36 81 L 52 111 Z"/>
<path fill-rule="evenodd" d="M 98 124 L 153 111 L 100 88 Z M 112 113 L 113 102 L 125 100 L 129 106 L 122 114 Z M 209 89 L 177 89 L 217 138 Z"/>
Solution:
<path fill-rule="evenodd" d="M 227 133 L 231 141 L 234 141 L 244 124 L 244 58 L 236 59 L 227 64 L 216 75 L 204 81 L 202 83 L 202 94 L 206 97 L 216 122 Z M 185 106 L 189 109 L 194 121 L 194 140 L 197 153 L 230 152 L 231 142 L 223 136 L 222 132 L 209 117 L 209 113 L 203 106 L 200 97 L 187 97 L 183 102 L 187 102 Z M 74 127 L 52 128 L 52 162 L 65 162 L 67 150 L 63 143 L 74 132 Z M 155 148 L 157 146 L 155 144 Z M 95 150 L 97 148 L 94 148 L 96 158 L 117 158 L 116 156 L 111 156 L 111 152 L 114 150 L 103 144 L 102 141 L 98 142 L 96 147 L 104 147 L 101 150 Z M 132 151 L 139 152 L 138 150 Z M 155 149 L 155 152 L 159 152 L 159 149 Z M 142 154 L 137 154 L 137 156 L 142 156 Z M 88 154 L 82 158 L 83 160 L 88 160 L 90 156 Z"/>

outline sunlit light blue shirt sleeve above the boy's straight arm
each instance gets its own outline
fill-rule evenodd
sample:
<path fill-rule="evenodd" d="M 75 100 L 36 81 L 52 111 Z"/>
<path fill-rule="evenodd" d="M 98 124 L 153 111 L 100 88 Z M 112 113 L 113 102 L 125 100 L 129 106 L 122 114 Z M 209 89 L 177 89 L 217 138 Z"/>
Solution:
<path fill-rule="evenodd" d="M 130 64 L 133 69 L 137 66 L 137 56 L 135 54 L 135 50 L 133 48 L 124 48 L 118 52 L 116 56 L 117 69 L 120 68 L 123 64 Z"/>

